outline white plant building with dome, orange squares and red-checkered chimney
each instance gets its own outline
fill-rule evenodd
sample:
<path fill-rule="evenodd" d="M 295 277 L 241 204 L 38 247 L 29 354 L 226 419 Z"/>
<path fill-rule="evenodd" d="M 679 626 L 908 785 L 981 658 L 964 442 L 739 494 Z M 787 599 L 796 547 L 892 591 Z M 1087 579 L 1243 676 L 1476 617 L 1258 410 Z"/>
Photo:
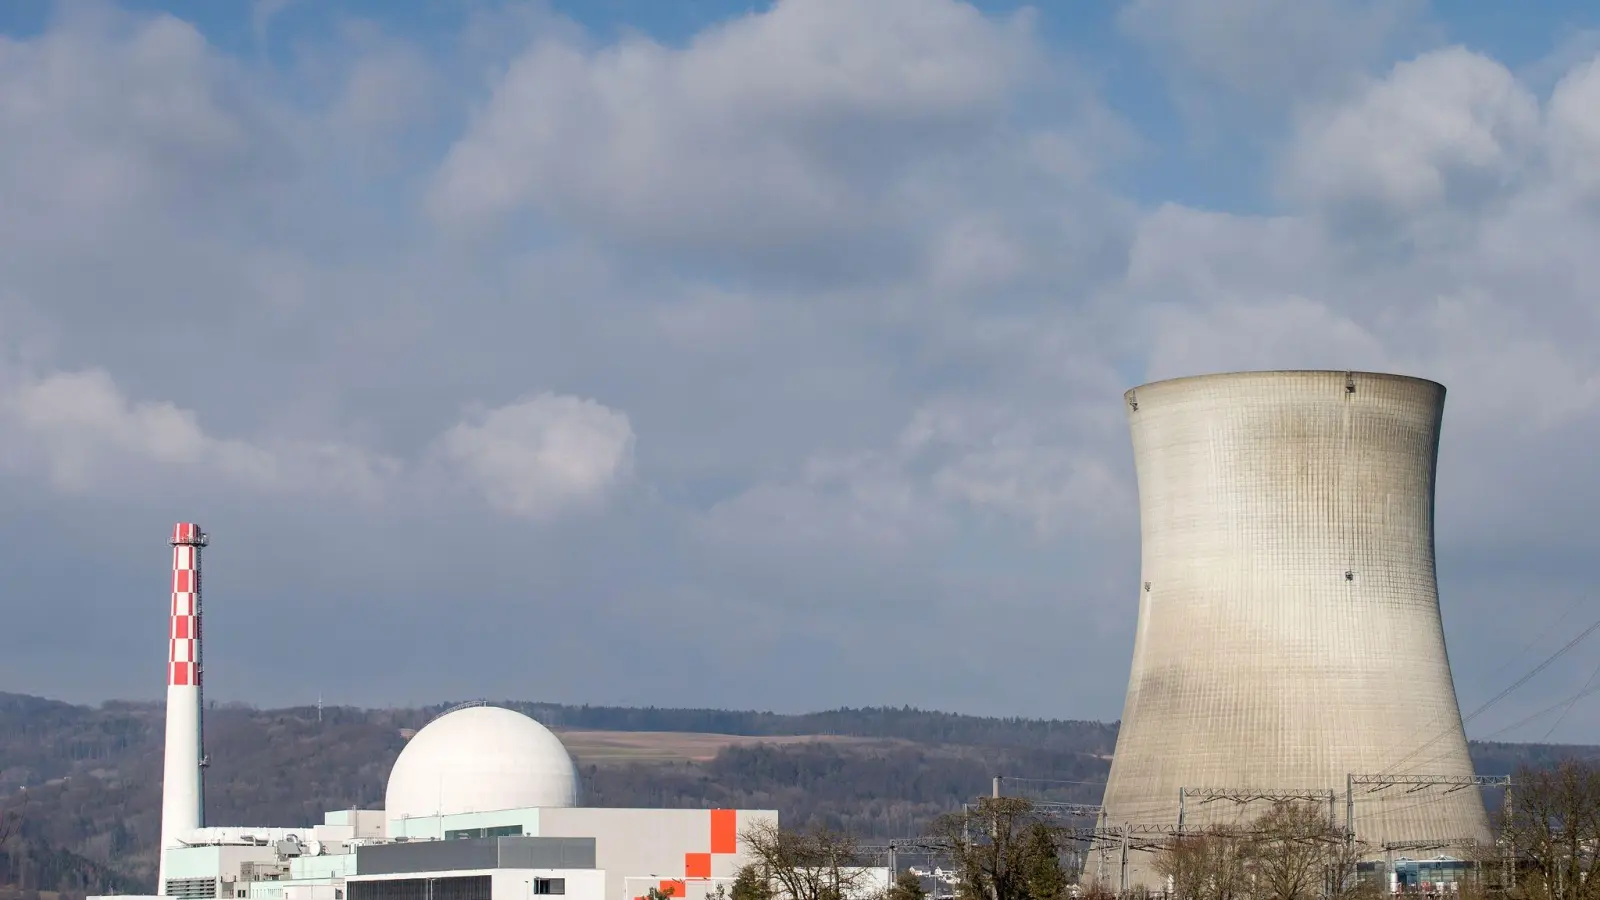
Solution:
<path fill-rule="evenodd" d="M 186 900 L 701 900 L 747 865 L 776 810 L 584 809 L 560 738 L 522 713 L 450 709 L 400 751 L 384 809 L 322 825 L 203 822 L 203 628 L 195 524 L 173 530 L 166 746 L 157 892 Z M 125 898 L 126 900 L 126 898 Z"/>

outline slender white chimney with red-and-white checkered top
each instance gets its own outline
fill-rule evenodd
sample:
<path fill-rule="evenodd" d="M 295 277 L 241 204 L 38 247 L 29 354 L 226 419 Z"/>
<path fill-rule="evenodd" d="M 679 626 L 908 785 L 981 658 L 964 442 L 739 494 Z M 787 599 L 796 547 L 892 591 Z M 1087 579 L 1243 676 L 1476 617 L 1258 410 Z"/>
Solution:
<path fill-rule="evenodd" d="M 210 538 L 194 522 L 173 525 L 173 604 L 166 652 L 166 757 L 162 770 L 162 850 L 182 847 L 205 825 L 205 745 L 202 727 L 200 551 Z M 166 897 L 166 854 L 157 895 Z"/>

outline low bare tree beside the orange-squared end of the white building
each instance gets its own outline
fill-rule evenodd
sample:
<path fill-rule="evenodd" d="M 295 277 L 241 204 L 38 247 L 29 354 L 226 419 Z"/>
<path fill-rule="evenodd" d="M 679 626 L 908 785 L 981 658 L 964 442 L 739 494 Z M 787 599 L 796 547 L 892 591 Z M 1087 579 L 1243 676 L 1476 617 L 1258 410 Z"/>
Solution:
<path fill-rule="evenodd" d="M 784 900 L 851 900 L 867 890 L 869 871 L 856 839 L 822 826 L 790 831 L 758 823 L 744 833 L 754 863 Z"/>

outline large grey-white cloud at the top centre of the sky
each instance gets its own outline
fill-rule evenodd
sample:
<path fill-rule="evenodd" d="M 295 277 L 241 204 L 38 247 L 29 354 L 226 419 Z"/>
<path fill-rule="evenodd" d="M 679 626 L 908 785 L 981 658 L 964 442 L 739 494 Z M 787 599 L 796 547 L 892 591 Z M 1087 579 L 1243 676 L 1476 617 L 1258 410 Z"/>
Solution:
<path fill-rule="evenodd" d="M 682 50 L 546 40 L 451 149 L 432 207 L 678 251 L 848 247 L 894 221 L 923 163 L 1006 119 L 1035 58 L 1026 16 L 955 0 L 781 0 Z"/>

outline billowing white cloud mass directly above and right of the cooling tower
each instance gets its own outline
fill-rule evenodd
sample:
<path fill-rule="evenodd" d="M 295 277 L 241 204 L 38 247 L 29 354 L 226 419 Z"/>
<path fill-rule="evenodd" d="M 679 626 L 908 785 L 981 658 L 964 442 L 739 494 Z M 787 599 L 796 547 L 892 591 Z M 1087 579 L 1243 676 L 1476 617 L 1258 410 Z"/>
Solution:
<path fill-rule="evenodd" d="M 1600 218 L 1582 202 L 1592 64 L 1541 109 L 1459 48 L 1301 112 L 1282 160 L 1296 215 L 1160 208 L 1114 291 L 1147 375 L 1376 368 L 1450 388 L 1442 511 L 1456 546 L 1565 548 L 1566 471 L 1600 439 Z M 1328 227 L 1328 226 L 1334 227 Z M 1539 464 L 1528 464 L 1541 460 Z M 1446 544 L 1446 549 L 1451 544 Z M 1563 551 L 1565 552 L 1565 551 Z"/>

